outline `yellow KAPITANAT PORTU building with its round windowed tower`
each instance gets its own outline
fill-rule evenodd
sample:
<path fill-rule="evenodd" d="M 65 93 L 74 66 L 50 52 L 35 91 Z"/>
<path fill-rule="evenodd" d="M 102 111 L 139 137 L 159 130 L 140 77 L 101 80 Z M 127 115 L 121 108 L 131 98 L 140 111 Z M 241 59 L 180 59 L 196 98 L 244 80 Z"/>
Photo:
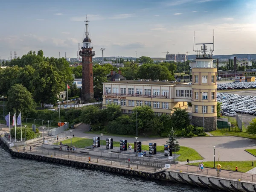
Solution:
<path fill-rule="evenodd" d="M 122 113 L 132 113 L 136 106 L 148 105 L 156 115 L 173 113 L 173 108 L 185 109 L 192 103 L 192 123 L 216 130 L 217 69 L 211 57 L 196 59 L 192 67 L 192 84 L 175 81 L 124 80 L 103 83 L 103 107 L 121 105 Z"/>

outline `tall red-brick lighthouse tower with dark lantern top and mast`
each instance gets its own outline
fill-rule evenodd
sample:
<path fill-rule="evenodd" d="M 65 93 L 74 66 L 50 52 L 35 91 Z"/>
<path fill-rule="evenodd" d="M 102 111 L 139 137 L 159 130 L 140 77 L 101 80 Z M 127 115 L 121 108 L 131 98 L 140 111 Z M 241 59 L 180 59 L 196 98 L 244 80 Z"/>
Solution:
<path fill-rule="evenodd" d="M 82 98 L 85 103 L 92 102 L 94 100 L 93 93 L 93 56 L 95 51 L 93 51 L 92 42 L 88 38 L 88 20 L 86 17 L 86 32 L 83 41 L 83 47 L 79 51 L 79 55 L 82 58 Z"/>

